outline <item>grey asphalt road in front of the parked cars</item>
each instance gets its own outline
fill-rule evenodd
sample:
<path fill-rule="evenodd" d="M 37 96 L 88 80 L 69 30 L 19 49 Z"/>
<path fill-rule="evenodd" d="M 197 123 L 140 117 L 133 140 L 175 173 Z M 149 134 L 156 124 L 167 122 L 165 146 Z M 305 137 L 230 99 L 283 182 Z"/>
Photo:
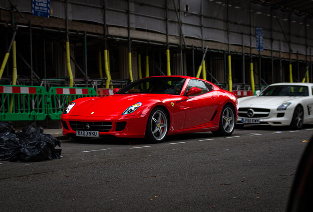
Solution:
<path fill-rule="evenodd" d="M 284 212 L 313 125 L 63 140 L 62 158 L 0 163 L 0 212 Z"/>

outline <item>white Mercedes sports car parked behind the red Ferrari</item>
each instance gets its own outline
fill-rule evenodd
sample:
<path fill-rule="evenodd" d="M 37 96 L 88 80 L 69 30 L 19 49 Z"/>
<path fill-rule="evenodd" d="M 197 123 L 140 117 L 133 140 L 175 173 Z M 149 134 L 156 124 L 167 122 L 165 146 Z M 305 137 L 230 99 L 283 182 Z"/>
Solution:
<path fill-rule="evenodd" d="M 256 94 L 238 99 L 238 128 L 272 125 L 298 130 L 313 123 L 313 83 L 277 83 Z"/>

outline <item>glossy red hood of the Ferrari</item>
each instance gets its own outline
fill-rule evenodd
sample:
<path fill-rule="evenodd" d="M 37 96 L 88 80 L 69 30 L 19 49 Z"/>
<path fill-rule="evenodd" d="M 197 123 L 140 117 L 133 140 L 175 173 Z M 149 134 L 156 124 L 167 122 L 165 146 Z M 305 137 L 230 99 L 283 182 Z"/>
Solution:
<path fill-rule="evenodd" d="M 137 102 L 144 104 L 145 100 L 150 98 L 151 95 L 148 94 L 117 94 L 106 97 L 91 97 L 83 102 L 78 102 L 73 107 L 71 115 L 119 116 L 133 104 Z"/>

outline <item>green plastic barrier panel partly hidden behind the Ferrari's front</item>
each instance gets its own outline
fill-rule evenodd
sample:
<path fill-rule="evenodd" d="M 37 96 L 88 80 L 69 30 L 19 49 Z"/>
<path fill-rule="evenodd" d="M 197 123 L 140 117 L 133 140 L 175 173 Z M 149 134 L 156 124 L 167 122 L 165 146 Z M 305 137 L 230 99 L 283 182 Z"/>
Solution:
<path fill-rule="evenodd" d="M 64 107 L 71 101 L 81 97 L 94 97 L 97 92 L 94 88 L 51 87 L 49 90 L 49 117 L 51 120 L 60 120 Z"/>

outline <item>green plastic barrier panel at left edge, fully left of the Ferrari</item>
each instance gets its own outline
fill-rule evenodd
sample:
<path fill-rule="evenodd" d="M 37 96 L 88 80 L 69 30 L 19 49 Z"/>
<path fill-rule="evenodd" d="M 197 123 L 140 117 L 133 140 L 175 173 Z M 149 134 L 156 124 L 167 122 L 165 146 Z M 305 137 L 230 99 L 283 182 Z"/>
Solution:
<path fill-rule="evenodd" d="M 44 87 L 0 85 L 0 121 L 44 120 L 47 98 Z"/>

